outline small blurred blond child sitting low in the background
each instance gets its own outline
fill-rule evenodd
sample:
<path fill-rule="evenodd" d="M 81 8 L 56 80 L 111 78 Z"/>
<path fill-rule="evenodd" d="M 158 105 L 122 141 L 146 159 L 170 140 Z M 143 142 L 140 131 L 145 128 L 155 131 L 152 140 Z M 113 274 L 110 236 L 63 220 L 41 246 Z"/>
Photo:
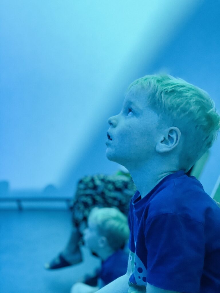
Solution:
<path fill-rule="evenodd" d="M 98 255 L 101 270 L 98 286 L 77 282 L 71 293 L 93 293 L 126 273 L 128 254 L 122 249 L 129 238 L 127 217 L 117 208 L 94 208 L 84 230 L 85 245 Z"/>

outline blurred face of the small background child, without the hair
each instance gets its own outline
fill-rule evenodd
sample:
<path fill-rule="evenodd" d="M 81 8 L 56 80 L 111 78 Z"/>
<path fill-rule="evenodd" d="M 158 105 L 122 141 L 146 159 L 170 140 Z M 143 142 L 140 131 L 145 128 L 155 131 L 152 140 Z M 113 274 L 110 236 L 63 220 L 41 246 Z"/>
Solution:
<path fill-rule="evenodd" d="M 83 231 L 83 240 L 85 245 L 93 252 L 99 252 L 99 239 L 101 235 L 97 229 L 97 225 L 88 221 L 88 228 Z"/>

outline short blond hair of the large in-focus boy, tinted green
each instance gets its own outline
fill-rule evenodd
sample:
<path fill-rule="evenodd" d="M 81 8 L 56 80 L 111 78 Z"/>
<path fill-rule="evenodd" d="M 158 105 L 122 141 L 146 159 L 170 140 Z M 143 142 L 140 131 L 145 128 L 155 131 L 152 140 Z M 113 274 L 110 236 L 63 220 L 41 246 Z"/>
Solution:
<path fill-rule="evenodd" d="M 129 87 L 146 94 L 146 105 L 161 121 L 176 126 L 183 134 L 180 169 L 188 171 L 212 146 L 220 129 L 220 117 L 208 93 L 170 75 L 146 75 Z"/>

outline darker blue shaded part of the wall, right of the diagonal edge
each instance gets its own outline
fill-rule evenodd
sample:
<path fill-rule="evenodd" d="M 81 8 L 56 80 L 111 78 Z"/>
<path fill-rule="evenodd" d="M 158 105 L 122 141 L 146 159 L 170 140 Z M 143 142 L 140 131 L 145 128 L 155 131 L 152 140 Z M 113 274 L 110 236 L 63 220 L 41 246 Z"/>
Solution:
<path fill-rule="evenodd" d="M 109 117 L 119 112 L 123 101 L 123 92 L 133 79 L 145 74 L 158 71 L 167 72 L 181 77 L 206 90 L 216 104 L 220 113 L 220 21 L 219 1 L 202 1 L 197 9 L 193 10 L 182 25 L 169 37 L 165 45 L 152 57 L 152 62 L 145 62 L 136 69 L 127 84 L 120 88 L 119 101 L 114 109 L 109 111 Z M 148 44 L 150 46 L 150 43 Z M 144 50 L 144 47 L 143 49 Z M 137 49 L 137 52 L 138 51 Z M 136 55 L 136 52 L 134 52 Z M 105 121 L 103 121 L 105 122 Z M 90 144 L 89 152 L 81 157 L 80 164 L 73 166 L 69 173 L 65 187 L 72 186 L 75 178 L 84 174 L 115 171 L 118 167 L 115 163 L 105 158 L 105 131 L 108 124 L 105 122 L 102 130 L 95 137 L 96 144 Z M 218 176 L 220 175 L 220 137 L 210 149 L 210 157 L 200 177 L 204 189 L 211 194 Z M 92 154 L 92 155 L 91 155 Z"/>

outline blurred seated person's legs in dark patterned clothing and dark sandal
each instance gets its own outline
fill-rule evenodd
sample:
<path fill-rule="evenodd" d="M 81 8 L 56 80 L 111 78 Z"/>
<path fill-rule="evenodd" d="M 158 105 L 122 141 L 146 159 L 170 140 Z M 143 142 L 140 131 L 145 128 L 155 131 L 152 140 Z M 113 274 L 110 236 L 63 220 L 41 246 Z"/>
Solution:
<path fill-rule="evenodd" d="M 50 263 L 46 269 L 64 268 L 80 263 L 83 244 L 83 231 L 87 228 L 89 212 L 97 207 L 117 207 L 126 217 L 129 203 L 136 187 L 129 173 L 118 171 L 114 175 L 97 174 L 85 176 L 79 180 L 73 198 L 72 231 L 65 249 Z"/>

